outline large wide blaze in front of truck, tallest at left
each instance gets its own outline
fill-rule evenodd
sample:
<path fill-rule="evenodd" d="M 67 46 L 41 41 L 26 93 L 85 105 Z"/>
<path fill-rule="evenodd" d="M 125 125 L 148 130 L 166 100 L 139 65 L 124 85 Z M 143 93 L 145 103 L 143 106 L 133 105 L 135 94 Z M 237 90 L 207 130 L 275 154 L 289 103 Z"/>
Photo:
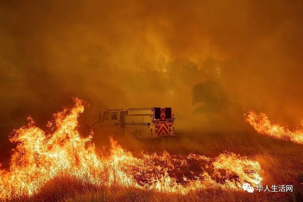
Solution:
<path fill-rule="evenodd" d="M 9 170 L 0 169 L 0 199 L 31 196 L 57 176 L 74 176 L 95 186 L 137 187 L 146 190 L 186 194 L 208 187 L 240 189 L 248 182 L 261 183 L 257 161 L 236 154 L 220 154 L 211 159 L 202 155 L 144 154 L 134 157 L 112 137 L 111 149 L 97 154 L 92 134 L 83 138 L 77 118 L 83 112 L 82 100 L 75 106 L 53 115 L 46 133 L 28 125 L 14 130 L 10 141 L 13 150 Z"/>

